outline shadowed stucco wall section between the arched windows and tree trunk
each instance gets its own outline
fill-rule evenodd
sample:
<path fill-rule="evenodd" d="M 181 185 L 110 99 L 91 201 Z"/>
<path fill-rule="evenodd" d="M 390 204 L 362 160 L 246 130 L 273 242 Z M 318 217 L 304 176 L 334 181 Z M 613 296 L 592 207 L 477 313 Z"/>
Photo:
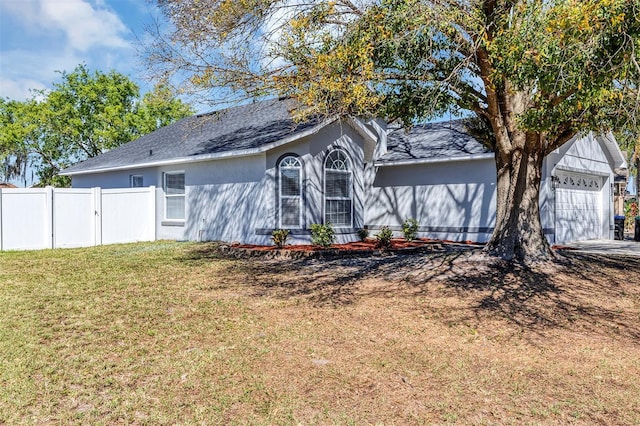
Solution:
<path fill-rule="evenodd" d="M 491 159 L 378 167 L 366 223 L 399 231 L 414 218 L 423 237 L 486 241 L 495 223 L 495 173 Z"/>

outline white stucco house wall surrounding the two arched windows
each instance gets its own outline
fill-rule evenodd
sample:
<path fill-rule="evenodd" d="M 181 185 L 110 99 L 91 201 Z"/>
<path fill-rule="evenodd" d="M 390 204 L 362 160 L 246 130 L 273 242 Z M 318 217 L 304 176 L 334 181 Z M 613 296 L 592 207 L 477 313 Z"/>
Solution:
<path fill-rule="evenodd" d="M 373 143 L 367 150 L 373 152 Z M 72 177 L 75 188 L 126 188 L 131 175 L 142 175 L 144 186 L 155 185 L 158 239 L 222 240 L 270 244 L 278 228 L 277 163 L 286 154 L 303 163 L 303 227 L 292 232 L 292 243 L 308 243 L 312 223 L 323 222 L 323 170 L 330 147 L 342 148 L 352 161 L 354 226 L 337 229 L 339 241 L 354 240 L 364 225 L 364 157 L 362 136 L 347 123 L 335 123 L 266 153 L 145 169 L 93 173 Z M 163 173 L 185 173 L 185 220 L 165 218 Z"/>

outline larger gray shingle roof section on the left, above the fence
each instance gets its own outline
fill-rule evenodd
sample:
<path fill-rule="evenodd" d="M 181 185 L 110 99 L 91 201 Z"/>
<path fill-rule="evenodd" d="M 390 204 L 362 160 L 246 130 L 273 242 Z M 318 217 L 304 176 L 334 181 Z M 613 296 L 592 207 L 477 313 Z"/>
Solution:
<path fill-rule="evenodd" d="M 270 99 L 194 115 L 71 166 L 63 173 L 259 148 L 319 123 L 317 119 L 296 123 L 291 117 L 293 107 L 292 100 Z"/>

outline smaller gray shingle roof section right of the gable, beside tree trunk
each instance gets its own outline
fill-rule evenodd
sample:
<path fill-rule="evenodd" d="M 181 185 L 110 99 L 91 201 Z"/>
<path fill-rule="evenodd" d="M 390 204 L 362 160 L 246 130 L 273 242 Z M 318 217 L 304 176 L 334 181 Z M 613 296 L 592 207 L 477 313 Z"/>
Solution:
<path fill-rule="evenodd" d="M 466 157 L 490 152 L 469 134 L 464 120 L 456 120 L 419 124 L 408 132 L 392 130 L 387 139 L 387 153 L 378 158 L 377 163 Z"/>

